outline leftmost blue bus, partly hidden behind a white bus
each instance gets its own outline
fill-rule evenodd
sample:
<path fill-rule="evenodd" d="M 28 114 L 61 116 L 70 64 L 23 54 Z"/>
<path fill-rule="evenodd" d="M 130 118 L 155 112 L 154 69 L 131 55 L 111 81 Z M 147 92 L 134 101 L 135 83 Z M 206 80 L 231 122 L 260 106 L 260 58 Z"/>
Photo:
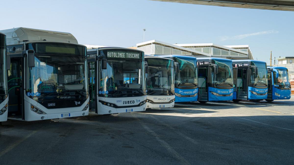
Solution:
<path fill-rule="evenodd" d="M 198 98 L 197 59 L 185 55 L 156 55 L 170 58 L 179 65 L 175 73 L 175 102 L 193 102 Z"/>

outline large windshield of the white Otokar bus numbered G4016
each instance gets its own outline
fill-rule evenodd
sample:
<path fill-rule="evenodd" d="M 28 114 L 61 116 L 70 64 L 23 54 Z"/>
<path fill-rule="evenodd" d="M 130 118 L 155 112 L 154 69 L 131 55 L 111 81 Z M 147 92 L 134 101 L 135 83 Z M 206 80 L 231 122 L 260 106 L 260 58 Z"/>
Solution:
<path fill-rule="evenodd" d="M 29 43 L 35 67 L 27 68 L 26 91 L 38 100 L 88 98 L 85 48 L 64 43 Z M 29 96 L 29 95 L 28 95 Z M 35 100 L 35 99 L 34 99 Z"/>

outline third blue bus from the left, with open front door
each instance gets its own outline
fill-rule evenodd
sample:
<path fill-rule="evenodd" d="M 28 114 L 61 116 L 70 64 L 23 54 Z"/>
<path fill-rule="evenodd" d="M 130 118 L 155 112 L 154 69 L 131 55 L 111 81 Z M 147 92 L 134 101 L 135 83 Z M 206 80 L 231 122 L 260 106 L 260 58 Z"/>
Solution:
<path fill-rule="evenodd" d="M 233 101 L 259 102 L 268 97 L 266 63 L 257 60 L 233 60 Z"/>

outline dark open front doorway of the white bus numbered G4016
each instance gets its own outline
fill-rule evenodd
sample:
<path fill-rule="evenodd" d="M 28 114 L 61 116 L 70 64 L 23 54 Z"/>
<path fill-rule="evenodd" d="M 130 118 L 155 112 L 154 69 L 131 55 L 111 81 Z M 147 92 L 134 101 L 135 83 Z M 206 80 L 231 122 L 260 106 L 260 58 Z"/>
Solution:
<path fill-rule="evenodd" d="M 13 119 L 24 119 L 22 60 L 23 58 L 11 58 L 10 70 L 8 71 L 8 117 Z"/>

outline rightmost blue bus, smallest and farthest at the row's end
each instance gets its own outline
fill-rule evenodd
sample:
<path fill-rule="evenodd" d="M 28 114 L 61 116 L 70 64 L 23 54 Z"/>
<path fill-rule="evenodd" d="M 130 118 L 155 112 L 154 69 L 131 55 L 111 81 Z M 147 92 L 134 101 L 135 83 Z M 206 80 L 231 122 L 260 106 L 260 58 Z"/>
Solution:
<path fill-rule="evenodd" d="M 291 85 L 288 69 L 280 66 L 268 66 L 267 102 L 291 98 Z"/>

